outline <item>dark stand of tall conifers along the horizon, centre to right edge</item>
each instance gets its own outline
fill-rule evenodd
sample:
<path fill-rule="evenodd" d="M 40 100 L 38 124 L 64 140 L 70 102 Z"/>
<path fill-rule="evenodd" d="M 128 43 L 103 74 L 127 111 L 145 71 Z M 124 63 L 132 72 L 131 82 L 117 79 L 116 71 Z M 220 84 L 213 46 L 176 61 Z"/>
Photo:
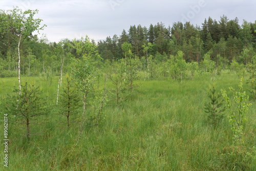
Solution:
<path fill-rule="evenodd" d="M 200 62 L 202 56 L 212 51 L 211 59 L 216 61 L 217 54 L 231 62 L 233 57 L 238 58 L 243 48 L 253 51 L 255 47 L 256 24 L 243 20 L 239 25 L 238 18 L 229 20 L 222 16 L 219 21 L 211 17 L 204 20 L 202 26 L 194 26 L 189 22 L 174 23 L 172 27 L 165 27 L 158 23 L 149 28 L 141 25 L 131 26 L 129 31 L 123 30 L 118 37 L 114 35 L 106 37 L 106 40 L 98 42 L 98 50 L 104 59 L 119 59 L 124 57 L 121 45 L 127 41 L 132 44 L 132 52 L 137 56 L 145 56 L 143 45 L 150 42 L 153 47 L 149 54 L 175 55 L 177 51 L 184 52 L 184 59 L 187 62 Z"/>

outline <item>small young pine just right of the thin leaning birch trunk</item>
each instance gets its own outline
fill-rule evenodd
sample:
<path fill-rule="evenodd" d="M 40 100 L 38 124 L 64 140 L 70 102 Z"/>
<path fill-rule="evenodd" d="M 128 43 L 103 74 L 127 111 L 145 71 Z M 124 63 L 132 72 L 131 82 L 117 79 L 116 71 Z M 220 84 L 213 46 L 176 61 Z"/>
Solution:
<path fill-rule="evenodd" d="M 59 105 L 61 106 L 59 114 L 67 117 L 68 127 L 70 125 L 70 116 L 75 115 L 79 108 L 80 96 L 78 89 L 71 83 L 69 74 L 66 75 L 67 83 L 63 87 L 63 91 L 60 94 Z"/>

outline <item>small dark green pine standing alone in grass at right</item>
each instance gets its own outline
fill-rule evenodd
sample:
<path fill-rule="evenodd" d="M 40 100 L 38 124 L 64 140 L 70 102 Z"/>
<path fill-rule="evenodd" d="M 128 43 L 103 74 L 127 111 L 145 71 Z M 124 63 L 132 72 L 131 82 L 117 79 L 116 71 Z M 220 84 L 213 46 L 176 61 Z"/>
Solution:
<path fill-rule="evenodd" d="M 210 123 L 216 127 L 218 122 L 223 119 L 223 112 L 225 111 L 225 107 L 223 106 L 224 99 L 221 98 L 221 94 L 216 93 L 215 85 L 212 87 L 209 86 L 207 92 L 209 100 L 204 103 L 204 111 L 209 114 Z"/>

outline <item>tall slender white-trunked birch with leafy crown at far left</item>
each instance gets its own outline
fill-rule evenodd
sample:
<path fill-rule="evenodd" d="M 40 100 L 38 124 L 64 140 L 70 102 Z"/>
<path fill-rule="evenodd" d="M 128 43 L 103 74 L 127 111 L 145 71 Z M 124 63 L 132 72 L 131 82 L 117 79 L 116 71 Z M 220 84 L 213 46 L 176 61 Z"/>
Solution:
<path fill-rule="evenodd" d="M 32 36 L 34 31 L 43 30 L 46 25 L 40 26 L 42 19 L 34 18 L 34 15 L 38 13 L 38 10 L 22 11 L 18 7 L 12 10 L 3 11 L 6 15 L 4 22 L 1 22 L 0 31 L 10 31 L 10 36 L 17 43 L 18 48 L 18 84 L 19 94 L 22 90 L 20 86 L 20 46 L 22 43 Z"/>

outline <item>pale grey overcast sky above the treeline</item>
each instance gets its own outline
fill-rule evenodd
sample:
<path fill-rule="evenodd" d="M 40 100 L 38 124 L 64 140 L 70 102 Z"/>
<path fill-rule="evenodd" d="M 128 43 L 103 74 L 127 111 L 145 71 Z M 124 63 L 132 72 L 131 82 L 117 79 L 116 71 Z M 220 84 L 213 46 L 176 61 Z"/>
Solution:
<path fill-rule="evenodd" d="M 199 25 L 209 16 L 219 21 L 223 14 L 228 19 L 239 18 L 255 22 L 255 0 L 1 0 L 0 9 L 13 6 L 38 9 L 37 18 L 47 25 L 44 33 L 49 41 L 80 38 L 88 35 L 98 41 L 121 34 L 131 25 L 147 28 L 162 22 L 166 27 L 174 22 Z M 40 35 L 39 35 L 40 37 Z"/>

